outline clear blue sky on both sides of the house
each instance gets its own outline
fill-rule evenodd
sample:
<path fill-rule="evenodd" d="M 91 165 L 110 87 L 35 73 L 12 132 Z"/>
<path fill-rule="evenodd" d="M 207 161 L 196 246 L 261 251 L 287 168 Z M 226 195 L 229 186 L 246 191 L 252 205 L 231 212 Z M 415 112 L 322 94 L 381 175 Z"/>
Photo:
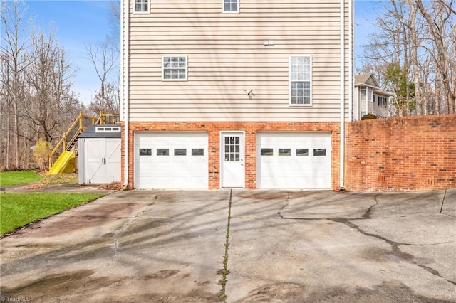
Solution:
<path fill-rule="evenodd" d="M 28 12 L 45 32 L 51 26 L 59 45 L 76 68 L 74 90 L 83 103 L 90 103 L 100 80 L 85 57 L 85 43 L 103 40 L 111 33 L 109 0 L 28 0 Z M 359 62 L 361 46 L 375 31 L 375 16 L 383 1 L 355 0 L 355 59 Z M 359 64 L 359 63 L 358 63 Z"/>

